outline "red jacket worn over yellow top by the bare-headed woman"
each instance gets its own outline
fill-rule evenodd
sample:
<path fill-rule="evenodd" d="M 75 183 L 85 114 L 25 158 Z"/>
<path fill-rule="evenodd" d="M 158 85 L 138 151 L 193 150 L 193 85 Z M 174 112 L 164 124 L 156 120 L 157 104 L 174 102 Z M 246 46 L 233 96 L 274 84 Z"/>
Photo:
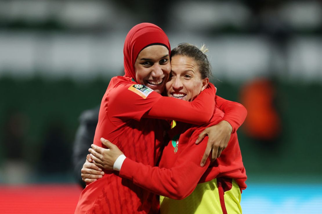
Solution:
<path fill-rule="evenodd" d="M 215 125 L 222 119 L 223 112 L 215 109 L 211 121 L 206 125 L 198 127 L 177 123 L 169 131 L 171 140 L 163 150 L 159 167 L 147 166 L 126 158 L 119 175 L 153 193 L 177 200 L 191 194 L 198 183 L 216 177 L 233 178 L 241 189 L 245 189 L 247 176 L 236 132 L 232 133 L 227 148 L 215 162 L 210 163 L 208 158 L 205 166 L 200 166 L 208 138 L 204 138 L 200 145 L 196 145 L 195 141 L 204 128 Z"/>

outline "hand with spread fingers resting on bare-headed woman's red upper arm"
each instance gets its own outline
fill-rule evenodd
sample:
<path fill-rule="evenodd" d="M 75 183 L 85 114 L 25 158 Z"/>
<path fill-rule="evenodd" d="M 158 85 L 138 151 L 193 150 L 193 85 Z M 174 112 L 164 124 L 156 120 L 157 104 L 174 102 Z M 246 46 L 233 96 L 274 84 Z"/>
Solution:
<path fill-rule="evenodd" d="M 199 134 L 196 144 L 200 143 L 204 139 L 204 137 L 208 135 L 207 147 L 204 152 L 204 156 L 201 159 L 200 166 L 204 166 L 204 163 L 206 162 L 211 151 L 211 161 L 214 161 L 215 159 L 220 157 L 222 151 L 228 145 L 231 133 L 231 124 L 223 120 L 216 125 L 205 128 L 205 130 L 201 134 Z"/>

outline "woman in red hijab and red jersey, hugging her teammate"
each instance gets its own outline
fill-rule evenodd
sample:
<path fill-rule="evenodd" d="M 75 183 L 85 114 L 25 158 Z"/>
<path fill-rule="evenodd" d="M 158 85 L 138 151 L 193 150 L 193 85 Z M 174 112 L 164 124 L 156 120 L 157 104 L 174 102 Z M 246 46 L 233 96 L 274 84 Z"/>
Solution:
<path fill-rule="evenodd" d="M 100 142 L 104 137 L 132 160 L 155 166 L 166 124 L 149 118 L 192 124 L 209 121 L 215 107 L 213 85 L 193 102 L 159 94 L 171 70 L 169 55 L 168 38 L 156 25 L 142 23 L 129 31 L 124 45 L 125 75 L 112 78 L 103 96 L 94 144 L 104 147 Z M 234 127 L 244 119 L 236 115 L 231 119 L 233 126 L 237 124 Z M 83 190 L 75 213 L 149 213 L 157 210 L 152 207 L 156 204 L 154 194 L 122 179 L 118 172 L 106 171 Z"/>

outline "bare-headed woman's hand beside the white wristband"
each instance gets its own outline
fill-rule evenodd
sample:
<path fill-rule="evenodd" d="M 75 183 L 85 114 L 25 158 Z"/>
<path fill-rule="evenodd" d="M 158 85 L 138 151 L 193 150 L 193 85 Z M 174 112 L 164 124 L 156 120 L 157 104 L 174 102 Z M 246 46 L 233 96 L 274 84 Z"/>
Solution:
<path fill-rule="evenodd" d="M 118 156 L 122 155 L 123 152 L 118 149 L 118 147 L 104 138 L 101 138 L 101 142 L 109 149 L 104 149 L 102 147 L 91 145 L 88 151 L 90 152 L 90 157 L 93 159 L 93 163 L 102 169 L 113 170 L 114 163 Z"/>

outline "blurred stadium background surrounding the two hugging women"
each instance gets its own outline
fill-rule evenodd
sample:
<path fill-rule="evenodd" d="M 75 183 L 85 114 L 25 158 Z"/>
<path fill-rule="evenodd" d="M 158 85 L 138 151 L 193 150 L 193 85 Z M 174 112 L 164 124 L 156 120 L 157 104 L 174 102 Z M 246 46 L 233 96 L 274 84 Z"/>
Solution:
<path fill-rule="evenodd" d="M 78 118 L 123 74 L 124 39 L 140 22 L 172 47 L 205 43 L 217 94 L 248 109 L 244 213 L 322 213 L 314 0 L 0 0 L 0 213 L 73 213 Z"/>

